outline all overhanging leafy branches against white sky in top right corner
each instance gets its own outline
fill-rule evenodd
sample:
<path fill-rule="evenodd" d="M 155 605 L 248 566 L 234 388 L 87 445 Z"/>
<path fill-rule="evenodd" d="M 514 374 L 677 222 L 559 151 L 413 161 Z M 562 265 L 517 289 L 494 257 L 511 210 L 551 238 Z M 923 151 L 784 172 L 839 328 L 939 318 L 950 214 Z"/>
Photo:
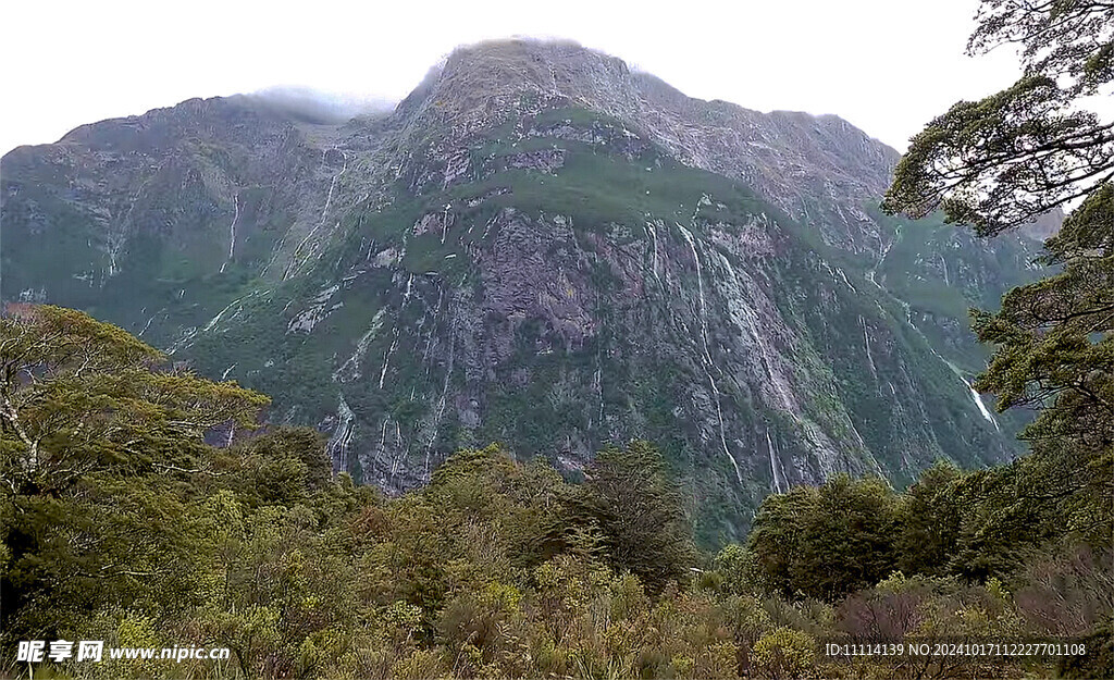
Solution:
<path fill-rule="evenodd" d="M 913 137 L 882 207 L 980 235 L 1034 222 L 1114 178 L 1114 123 L 1076 105 L 1114 80 L 1114 4 L 984 0 L 967 52 L 1020 47 L 1024 75 L 979 101 L 959 101 Z"/>

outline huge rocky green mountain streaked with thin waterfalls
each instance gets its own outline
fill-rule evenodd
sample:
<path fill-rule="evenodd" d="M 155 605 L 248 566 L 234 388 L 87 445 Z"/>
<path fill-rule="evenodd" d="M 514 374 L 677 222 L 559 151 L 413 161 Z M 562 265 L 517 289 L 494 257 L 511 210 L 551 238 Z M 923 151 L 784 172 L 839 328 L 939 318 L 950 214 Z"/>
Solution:
<path fill-rule="evenodd" d="M 463 446 L 575 476 L 648 438 L 720 542 L 793 484 L 1015 450 L 968 387 L 966 310 L 1037 242 L 882 215 L 897 159 L 836 116 L 481 43 L 390 113 L 192 99 L 12 150 L 0 299 L 265 391 L 388 490 Z"/>

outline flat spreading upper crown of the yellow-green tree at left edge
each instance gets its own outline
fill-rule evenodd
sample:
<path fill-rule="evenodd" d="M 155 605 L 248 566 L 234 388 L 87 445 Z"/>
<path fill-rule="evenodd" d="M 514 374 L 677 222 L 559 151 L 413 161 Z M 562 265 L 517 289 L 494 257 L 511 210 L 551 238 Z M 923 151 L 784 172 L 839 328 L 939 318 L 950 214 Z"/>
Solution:
<path fill-rule="evenodd" d="M 186 472 L 221 425 L 254 426 L 270 400 L 189 372 L 127 332 L 75 310 L 0 317 L 0 480 L 62 495 L 106 468 Z"/>

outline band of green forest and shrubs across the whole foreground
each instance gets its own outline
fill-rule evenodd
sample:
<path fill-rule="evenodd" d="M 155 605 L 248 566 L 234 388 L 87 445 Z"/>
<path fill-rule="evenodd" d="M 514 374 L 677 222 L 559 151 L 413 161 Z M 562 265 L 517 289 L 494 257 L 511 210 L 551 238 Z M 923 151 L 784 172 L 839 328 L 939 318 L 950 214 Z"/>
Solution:
<path fill-rule="evenodd" d="M 6 408 L 19 408 L 4 411 L 2 430 L 4 488 L 17 493 L 0 506 L 0 643 L 232 650 L 227 664 L 45 662 L 36 677 L 847 677 L 818 639 L 1108 626 L 1108 551 L 1049 546 L 1071 541 L 1053 531 L 1067 511 L 1022 493 L 1048 462 L 967 474 L 939 465 L 903 495 L 842 476 L 797 488 L 766 501 L 749 548 L 710 561 L 644 441 L 600 451 L 580 485 L 499 446 L 460 450 L 427 488 L 385 499 L 331 477 L 312 430 L 206 444 L 205 424 L 236 417 L 245 428 L 263 398 L 159 372 L 157 352 L 118 329 L 52 308 L 3 322 L 6 366 L 36 381 L 3 392 Z M 109 380 L 113 371 L 129 381 Z M 62 388 L 65 400 L 49 397 Z M 81 426 L 39 438 L 46 421 Z M 39 441 L 41 465 L 86 449 L 99 457 L 45 493 L 21 467 L 32 449 L 16 425 Z M 117 433 L 143 435 L 150 451 L 129 450 Z M 895 562 L 920 573 L 946 562 L 950 575 L 887 576 Z M 984 583 L 1007 572 L 1016 596 Z M 1061 671 L 1108 664 L 1102 639 L 1091 644 L 1093 657 Z M 1046 676 L 1054 663 L 936 658 L 903 661 L 897 677 Z M 871 668 L 892 670 L 853 670 Z"/>

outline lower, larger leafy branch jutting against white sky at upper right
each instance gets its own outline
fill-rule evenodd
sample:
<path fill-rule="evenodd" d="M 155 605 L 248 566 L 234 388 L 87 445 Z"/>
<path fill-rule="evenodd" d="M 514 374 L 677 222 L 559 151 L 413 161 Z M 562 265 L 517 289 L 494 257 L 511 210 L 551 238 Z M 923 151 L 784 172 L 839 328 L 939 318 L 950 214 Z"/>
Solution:
<path fill-rule="evenodd" d="M 994 235 L 1085 195 L 1078 185 L 1114 174 L 1114 139 L 1094 114 L 1069 105 L 1043 75 L 956 104 L 913 137 L 882 206 L 915 217 L 942 207 L 949 222 Z M 1046 168 L 1059 166 L 1049 178 Z"/>

